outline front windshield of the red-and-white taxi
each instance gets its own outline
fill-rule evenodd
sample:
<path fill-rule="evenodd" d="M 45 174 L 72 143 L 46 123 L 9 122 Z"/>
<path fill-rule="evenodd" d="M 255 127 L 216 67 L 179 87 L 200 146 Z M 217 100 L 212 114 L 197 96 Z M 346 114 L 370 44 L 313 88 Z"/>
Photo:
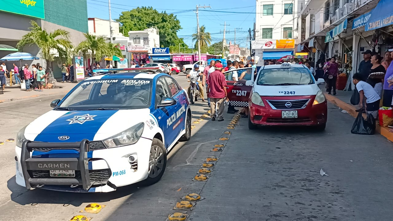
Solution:
<path fill-rule="evenodd" d="M 306 68 L 270 68 L 261 69 L 258 85 L 310 85 L 314 80 Z"/>

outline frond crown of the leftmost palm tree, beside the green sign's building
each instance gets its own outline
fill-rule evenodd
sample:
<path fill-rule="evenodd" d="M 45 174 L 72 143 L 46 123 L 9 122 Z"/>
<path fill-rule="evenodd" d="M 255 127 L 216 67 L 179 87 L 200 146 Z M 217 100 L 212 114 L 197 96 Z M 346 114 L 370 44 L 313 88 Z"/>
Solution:
<path fill-rule="evenodd" d="M 17 44 L 17 48 L 22 51 L 26 44 L 35 44 L 41 50 L 42 59 L 46 60 L 47 68 L 51 68 L 52 61 L 58 57 L 59 61 L 71 63 L 72 61 L 72 43 L 70 41 L 70 32 L 63 29 L 56 29 L 53 32 L 47 32 L 42 29 L 37 22 L 31 20 L 30 32 L 22 36 Z"/>

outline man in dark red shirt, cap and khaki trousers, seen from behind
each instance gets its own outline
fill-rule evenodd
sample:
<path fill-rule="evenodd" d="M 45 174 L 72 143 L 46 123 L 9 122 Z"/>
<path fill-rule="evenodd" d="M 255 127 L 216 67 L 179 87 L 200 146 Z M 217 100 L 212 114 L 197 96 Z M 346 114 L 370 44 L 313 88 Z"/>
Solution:
<path fill-rule="evenodd" d="M 215 71 L 209 75 L 208 98 L 210 98 L 211 120 L 216 120 L 216 106 L 218 121 L 224 120 L 224 101 L 227 98 L 225 76 L 221 73 L 222 64 L 215 64 Z"/>

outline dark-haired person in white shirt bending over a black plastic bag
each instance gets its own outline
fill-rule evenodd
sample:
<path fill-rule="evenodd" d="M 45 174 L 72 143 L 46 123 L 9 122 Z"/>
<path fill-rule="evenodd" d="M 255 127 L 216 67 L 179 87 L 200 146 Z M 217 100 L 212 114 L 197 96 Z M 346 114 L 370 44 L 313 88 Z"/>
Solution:
<path fill-rule="evenodd" d="M 356 86 L 356 89 L 358 89 L 360 95 L 359 106 L 360 108 L 365 107 L 367 114 L 373 115 L 373 117 L 376 119 L 378 118 L 378 109 L 381 98 L 374 90 L 373 86 L 371 86 L 369 83 L 362 81 L 362 77 L 363 76 L 361 76 L 360 74 L 354 74 L 352 77 L 352 82 Z M 364 97 L 366 98 L 365 104 L 363 104 Z"/>

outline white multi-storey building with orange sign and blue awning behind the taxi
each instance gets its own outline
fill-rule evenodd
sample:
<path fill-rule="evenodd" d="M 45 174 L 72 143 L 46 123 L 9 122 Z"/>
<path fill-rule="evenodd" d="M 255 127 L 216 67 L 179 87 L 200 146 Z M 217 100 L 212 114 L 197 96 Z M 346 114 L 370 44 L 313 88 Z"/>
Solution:
<path fill-rule="evenodd" d="M 262 66 L 264 59 L 293 55 L 298 43 L 300 1 L 302 0 L 256 1 L 255 40 L 252 41 L 252 49 L 255 50 L 257 66 Z"/>

